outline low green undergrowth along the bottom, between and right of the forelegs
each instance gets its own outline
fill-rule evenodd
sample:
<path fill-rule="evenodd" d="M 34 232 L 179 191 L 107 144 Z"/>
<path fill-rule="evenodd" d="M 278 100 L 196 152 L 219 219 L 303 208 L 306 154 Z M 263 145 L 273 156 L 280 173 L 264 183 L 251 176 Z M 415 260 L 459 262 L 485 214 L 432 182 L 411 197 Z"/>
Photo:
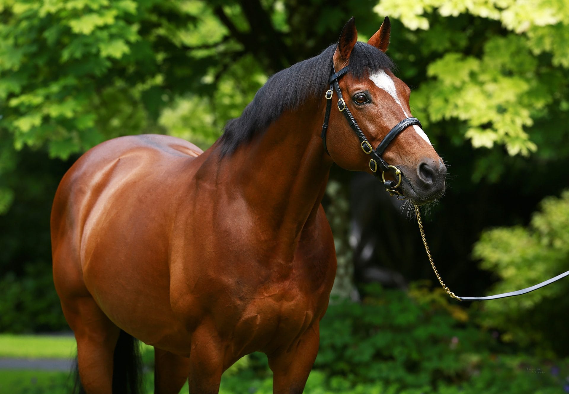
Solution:
<path fill-rule="evenodd" d="M 320 351 L 304 393 L 519 394 L 569 391 L 569 360 L 520 354 L 467 320 L 444 293 L 368 287 L 364 302 L 340 301 L 321 321 Z M 272 392 L 255 362 L 222 379 L 221 393 Z M 263 370 L 263 367 L 265 368 Z"/>

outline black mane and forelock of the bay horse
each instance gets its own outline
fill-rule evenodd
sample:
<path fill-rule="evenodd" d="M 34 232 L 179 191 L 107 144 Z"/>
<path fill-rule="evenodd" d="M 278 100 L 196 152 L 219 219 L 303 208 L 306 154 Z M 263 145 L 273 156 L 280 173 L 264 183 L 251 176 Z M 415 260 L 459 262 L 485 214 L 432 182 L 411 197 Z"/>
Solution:
<path fill-rule="evenodd" d="M 328 90 L 332 70 L 332 56 L 337 43 L 324 49 L 320 55 L 300 61 L 279 71 L 257 91 L 253 101 L 240 117 L 231 119 L 221 136 L 221 155 L 232 154 L 242 143 L 248 143 L 276 121 L 283 111 L 294 110 L 307 99 L 323 96 Z M 366 71 L 392 70 L 393 61 L 372 45 L 357 42 L 349 60 L 349 73 L 360 79 Z"/>

